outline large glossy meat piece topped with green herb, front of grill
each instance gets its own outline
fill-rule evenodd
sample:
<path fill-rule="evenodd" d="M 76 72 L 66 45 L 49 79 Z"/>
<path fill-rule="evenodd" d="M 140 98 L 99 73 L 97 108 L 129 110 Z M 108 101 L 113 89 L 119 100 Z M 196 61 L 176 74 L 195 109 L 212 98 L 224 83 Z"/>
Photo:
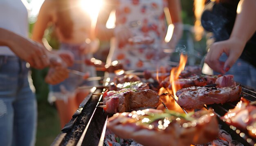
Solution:
<path fill-rule="evenodd" d="M 107 128 L 118 137 L 145 146 L 204 144 L 215 139 L 219 131 L 211 110 L 190 115 L 155 109 L 117 113 L 108 119 Z"/>

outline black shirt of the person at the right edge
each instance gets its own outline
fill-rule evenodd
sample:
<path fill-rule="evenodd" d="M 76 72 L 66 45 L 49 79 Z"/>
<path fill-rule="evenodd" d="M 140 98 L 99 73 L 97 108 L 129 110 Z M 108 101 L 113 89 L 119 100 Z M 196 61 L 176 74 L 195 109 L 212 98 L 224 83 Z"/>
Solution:
<path fill-rule="evenodd" d="M 205 5 L 201 23 L 206 31 L 213 33 L 216 42 L 229 39 L 236 20 L 238 2 L 239 0 L 229 0 L 219 3 L 208 2 Z M 250 20 L 245 23 L 249 22 Z M 256 33 L 247 42 L 240 58 L 256 67 Z"/>

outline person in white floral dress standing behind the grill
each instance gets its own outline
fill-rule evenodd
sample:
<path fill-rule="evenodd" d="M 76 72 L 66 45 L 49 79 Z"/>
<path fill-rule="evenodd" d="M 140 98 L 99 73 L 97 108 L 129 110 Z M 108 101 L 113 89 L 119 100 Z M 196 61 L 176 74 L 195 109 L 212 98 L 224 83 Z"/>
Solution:
<path fill-rule="evenodd" d="M 106 63 L 111 65 L 110 62 L 118 60 L 126 70 L 156 69 L 159 60 L 161 66 L 166 66 L 170 58 L 163 49 L 173 51 L 183 33 L 180 1 L 105 0 L 105 4 L 99 13 L 97 37 L 100 40 L 114 37 Z M 108 29 L 106 22 L 111 11 L 115 11 L 115 28 Z M 166 20 L 174 25 L 167 44 Z"/>

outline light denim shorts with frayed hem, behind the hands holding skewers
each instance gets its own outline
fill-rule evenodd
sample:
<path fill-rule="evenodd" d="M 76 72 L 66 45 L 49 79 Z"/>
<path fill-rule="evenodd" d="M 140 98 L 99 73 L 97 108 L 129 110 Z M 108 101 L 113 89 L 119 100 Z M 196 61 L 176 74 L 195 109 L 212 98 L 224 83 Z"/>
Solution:
<path fill-rule="evenodd" d="M 74 54 L 74 60 L 85 60 L 92 58 L 92 54 L 81 54 L 81 52 L 79 51 L 79 47 L 81 45 L 82 44 L 61 43 L 59 50 L 71 51 Z M 81 71 L 83 73 L 89 72 L 90 77 L 96 76 L 96 70 L 94 66 L 88 66 L 85 64 L 74 64 L 73 66 L 70 66 L 69 69 Z M 86 80 L 83 80 L 83 76 L 70 73 L 69 77 L 60 84 L 50 85 L 50 93 L 48 100 L 50 103 L 54 102 L 56 99 L 67 101 L 67 98 L 72 97 L 75 94 L 77 87 L 96 86 L 97 84 L 97 81 L 88 82 Z"/>

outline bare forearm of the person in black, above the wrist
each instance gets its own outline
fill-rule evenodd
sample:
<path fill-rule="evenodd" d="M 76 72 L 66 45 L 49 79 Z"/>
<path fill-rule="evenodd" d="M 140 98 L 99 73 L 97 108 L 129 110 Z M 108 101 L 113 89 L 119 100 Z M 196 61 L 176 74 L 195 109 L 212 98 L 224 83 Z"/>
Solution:
<path fill-rule="evenodd" d="M 230 39 L 240 40 L 244 45 L 256 31 L 256 0 L 241 0 Z"/>

